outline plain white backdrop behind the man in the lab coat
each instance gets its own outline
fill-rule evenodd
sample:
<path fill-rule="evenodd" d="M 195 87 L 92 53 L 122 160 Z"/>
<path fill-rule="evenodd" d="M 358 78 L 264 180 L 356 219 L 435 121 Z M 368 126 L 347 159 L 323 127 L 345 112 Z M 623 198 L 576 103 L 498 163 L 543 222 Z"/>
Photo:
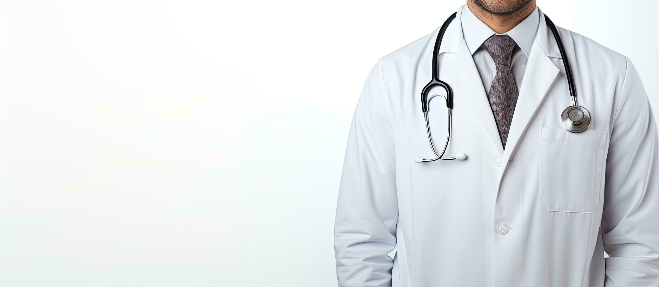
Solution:
<path fill-rule="evenodd" d="M 0 286 L 335 286 L 364 80 L 462 3 L 2 1 Z M 538 6 L 659 105 L 657 1 Z"/>

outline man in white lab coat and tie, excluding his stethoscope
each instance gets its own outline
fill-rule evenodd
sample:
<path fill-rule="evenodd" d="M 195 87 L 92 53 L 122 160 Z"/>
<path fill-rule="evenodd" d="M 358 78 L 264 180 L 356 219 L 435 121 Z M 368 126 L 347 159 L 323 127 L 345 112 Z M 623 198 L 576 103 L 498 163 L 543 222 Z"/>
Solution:
<path fill-rule="evenodd" d="M 572 133 L 567 70 L 534 0 L 469 0 L 434 63 L 438 32 L 382 57 L 364 85 L 336 214 L 339 286 L 659 286 L 659 138 L 629 59 L 558 29 L 591 118 Z M 433 155 L 420 94 L 434 64 L 454 95 L 445 154 L 466 160 L 415 163 Z M 442 148 L 446 105 L 429 108 Z"/>

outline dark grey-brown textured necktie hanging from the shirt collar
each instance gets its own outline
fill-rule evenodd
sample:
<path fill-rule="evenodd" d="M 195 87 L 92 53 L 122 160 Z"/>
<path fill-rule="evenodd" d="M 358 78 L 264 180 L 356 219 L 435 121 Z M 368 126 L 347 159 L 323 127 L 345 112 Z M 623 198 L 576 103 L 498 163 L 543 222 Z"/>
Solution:
<path fill-rule="evenodd" d="M 483 47 L 490 53 L 496 65 L 496 75 L 490 86 L 488 100 L 499 128 L 503 148 L 505 148 L 510 123 L 515 112 L 515 104 L 517 104 L 517 96 L 519 96 L 515 77 L 510 70 L 510 60 L 515 45 L 517 45 L 515 40 L 509 35 L 494 35 L 483 43 Z"/>

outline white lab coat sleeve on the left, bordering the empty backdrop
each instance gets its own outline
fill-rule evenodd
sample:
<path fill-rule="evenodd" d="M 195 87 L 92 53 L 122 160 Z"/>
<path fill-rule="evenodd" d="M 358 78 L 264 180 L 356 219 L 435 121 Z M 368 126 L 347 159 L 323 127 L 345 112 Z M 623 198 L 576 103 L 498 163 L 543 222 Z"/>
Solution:
<path fill-rule="evenodd" d="M 398 205 L 393 113 L 382 59 L 370 72 L 351 123 L 334 228 L 339 286 L 391 286 Z"/>

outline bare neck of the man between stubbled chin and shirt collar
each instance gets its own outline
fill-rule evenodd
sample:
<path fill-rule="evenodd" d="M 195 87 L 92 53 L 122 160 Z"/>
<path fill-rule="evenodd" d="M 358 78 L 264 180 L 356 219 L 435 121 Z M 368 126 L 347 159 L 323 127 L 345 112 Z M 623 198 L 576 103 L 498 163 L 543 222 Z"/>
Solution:
<path fill-rule="evenodd" d="M 505 33 L 517 26 L 519 22 L 522 22 L 535 8 L 535 0 L 529 1 L 527 5 L 521 9 L 511 12 L 508 14 L 493 14 L 484 9 L 481 9 L 473 0 L 467 1 L 467 6 L 469 10 L 474 13 L 476 18 L 480 19 L 485 23 L 490 29 L 496 33 Z"/>

